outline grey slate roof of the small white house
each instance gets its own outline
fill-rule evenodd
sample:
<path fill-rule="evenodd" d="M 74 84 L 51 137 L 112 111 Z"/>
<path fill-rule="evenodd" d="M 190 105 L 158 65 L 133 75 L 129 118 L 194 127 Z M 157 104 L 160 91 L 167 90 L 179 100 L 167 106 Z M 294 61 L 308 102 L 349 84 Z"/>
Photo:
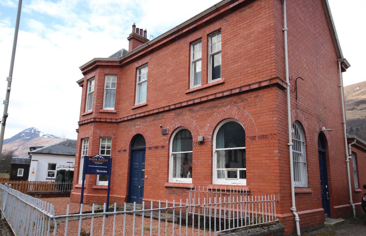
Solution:
<path fill-rule="evenodd" d="M 76 140 L 68 139 L 33 150 L 31 153 L 75 156 Z"/>

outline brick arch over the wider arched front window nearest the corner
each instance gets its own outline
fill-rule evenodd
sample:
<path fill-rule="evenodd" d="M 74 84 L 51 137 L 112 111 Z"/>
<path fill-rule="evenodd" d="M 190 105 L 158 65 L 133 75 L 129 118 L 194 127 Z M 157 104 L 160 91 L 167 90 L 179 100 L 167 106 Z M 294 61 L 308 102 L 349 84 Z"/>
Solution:
<path fill-rule="evenodd" d="M 257 134 L 257 126 L 255 125 L 253 117 L 246 110 L 240 107 L 224 107 L 214 113 L 208 120 L 203 133 L 204 138 L 211 139 L 214 129 L 224 119 L 233 118 L 238 120 L 244 127 L 246 136 L 253 136 Z"/>

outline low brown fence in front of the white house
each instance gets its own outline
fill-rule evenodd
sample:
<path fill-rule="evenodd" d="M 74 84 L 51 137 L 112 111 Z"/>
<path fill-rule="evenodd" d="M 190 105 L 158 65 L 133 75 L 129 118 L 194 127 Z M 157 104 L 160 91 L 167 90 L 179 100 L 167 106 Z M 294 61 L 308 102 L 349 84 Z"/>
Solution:
<path fill-rule="evenodd" d="M 72 181 L 67 182 L 49 182 L 49 181 L 6 181 L 1 184 L 11 184 L 12 189 L 22 193 L 29 192 L 65 192 L 72 190 Z"/>

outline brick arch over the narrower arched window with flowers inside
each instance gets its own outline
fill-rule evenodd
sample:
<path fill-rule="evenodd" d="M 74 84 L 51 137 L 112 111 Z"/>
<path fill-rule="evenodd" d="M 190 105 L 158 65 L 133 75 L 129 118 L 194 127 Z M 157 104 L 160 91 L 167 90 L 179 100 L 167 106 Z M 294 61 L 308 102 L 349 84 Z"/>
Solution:
<path fill-rule="evenodd" d="M 163 136 L 163 145 L 169 144 L 170 137 L 178 127 L 186 127 L 191 132 L 193 139 L 201 134 L 197 123 L 193 119 L 189 117 L 174 118 L 167 126 L 168 134 Z"/>

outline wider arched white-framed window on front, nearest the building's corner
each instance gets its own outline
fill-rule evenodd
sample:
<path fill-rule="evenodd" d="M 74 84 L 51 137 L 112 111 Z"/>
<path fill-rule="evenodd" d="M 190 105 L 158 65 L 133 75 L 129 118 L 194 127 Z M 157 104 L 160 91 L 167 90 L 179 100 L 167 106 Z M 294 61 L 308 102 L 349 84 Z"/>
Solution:
<path fill-rule="evenodd" d="M 213 139 L 213 183 L 246 185 L 245 131 L 236 119 L 221 122 Z"/>

